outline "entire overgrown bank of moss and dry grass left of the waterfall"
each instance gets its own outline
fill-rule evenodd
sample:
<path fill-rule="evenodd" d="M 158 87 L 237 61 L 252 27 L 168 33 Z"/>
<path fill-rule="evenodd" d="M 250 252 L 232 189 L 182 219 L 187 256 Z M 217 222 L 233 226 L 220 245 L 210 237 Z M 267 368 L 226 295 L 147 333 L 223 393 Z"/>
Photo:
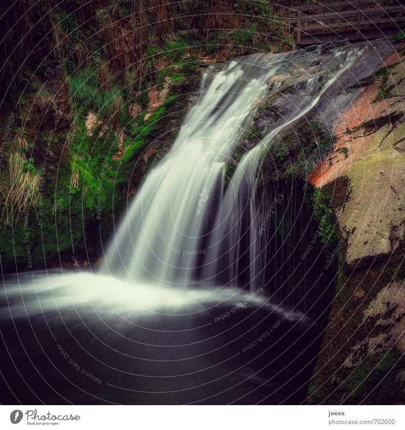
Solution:
<path fill-rule="evenodd" d="M 3 12 L 3 268 L 24 267 L 27 231 L 35 264 L 72 252 L 96 258 L 100 233 L 107 240 L 113 212 L 141 182 L 146 145 L 170 132 L 168 115 L 184 112 L 177 86 L 199 75 L 206 60 L 291 49 L 272 9 L 259 1 L 152 0 L 145 11 L 135 0 L 50 0 Z M 168 79 L 169 93 L 151 109 L 150 89 L 162 91 Z M 18 127 L 7 124 L 10 112 Z"/>

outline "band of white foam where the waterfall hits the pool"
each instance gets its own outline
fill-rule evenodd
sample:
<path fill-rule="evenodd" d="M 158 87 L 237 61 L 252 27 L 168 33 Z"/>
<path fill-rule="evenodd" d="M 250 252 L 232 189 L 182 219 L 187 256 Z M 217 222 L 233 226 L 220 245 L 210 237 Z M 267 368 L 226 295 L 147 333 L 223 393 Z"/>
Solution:
<path fill-rule="evenodd" d="M 7 289 L 0 290 L 0 321 L 58 311 L 64 319 L 88 314 L 133 318 L 139 315 L 192 315 L 212 311 L 215 306 L 262 308 L 282 315 L 280 306 L 264 297 L 234 288 L 165 288 L 160 285 L 138 284 L 109 275 L 91 272 L 59 270 L 24 273 L 18 279 L 7 280 Z M 72 312 L 73 311 L 73 312 Z M 299 312 L 290 312 L 290 321 L 305 321 Z"/>

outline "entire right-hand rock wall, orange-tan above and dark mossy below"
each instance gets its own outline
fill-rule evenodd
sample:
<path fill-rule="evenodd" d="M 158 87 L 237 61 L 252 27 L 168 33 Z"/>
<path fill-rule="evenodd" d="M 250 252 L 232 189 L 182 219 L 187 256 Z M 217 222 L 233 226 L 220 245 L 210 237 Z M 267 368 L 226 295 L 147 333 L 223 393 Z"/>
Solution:
<path fill-rule="evenodd" d="M 335 214 L 345 262 L 309 403 L 405 402 L 403 44 L 395 50 L 346 89 L 354 98 L 333 123 L 335 148 L 308 177 L 343 196 Z"/>

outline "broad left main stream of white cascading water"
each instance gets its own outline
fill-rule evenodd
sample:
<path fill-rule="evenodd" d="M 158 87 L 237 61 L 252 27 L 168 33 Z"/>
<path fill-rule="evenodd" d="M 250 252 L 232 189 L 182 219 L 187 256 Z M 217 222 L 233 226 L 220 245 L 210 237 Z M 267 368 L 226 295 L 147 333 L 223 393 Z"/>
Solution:
<path fill-rule="evenodd" d="M 232 61 L 210 87 L 204 75 L 191 110 L 170 153 L 146 179 L 116 233 L 105 270 L 136 281 L 189 284 L 198 261 L 210 253 L 203 243 L 222 207 L 225 167 L 249 117 L 267 93 L 267 80 L 282 65 L 268 55 Z"/>

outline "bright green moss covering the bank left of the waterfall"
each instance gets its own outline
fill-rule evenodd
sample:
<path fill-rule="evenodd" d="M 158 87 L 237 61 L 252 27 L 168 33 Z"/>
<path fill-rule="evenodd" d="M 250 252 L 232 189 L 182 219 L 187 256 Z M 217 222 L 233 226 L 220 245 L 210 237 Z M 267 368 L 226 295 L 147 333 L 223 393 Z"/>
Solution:
<path fill-rule="evenodd" d="M 175 76 L 178 77 L 181 75 Z M 132 127 L 130 126 L 129 130 L 132 136 L 125 136 L 123 146 L 126 152 L 118 161 L 111 159 L 117 151 L 117 138 L 112 125 L 104 130 L 102 137 L 99 137 L 99 132 L 103 124 L 94 130 L 92 136 L 88 136 L 85 124 L 87 110 L 81 109 L 79 102 L 73 105 L 76 111 L 75 132 L 69 136 L 70 155 L 64 155 L 60 159 L 57 176 L 53 176 L 52 170 L 46 170 L 46 185 L 41 200 L 41 223 L 37 217 L 38 206 L 31 206 L 28 213 L 29 246 L 34 267 L 43 266 L 44 255 L 49 263 L 59 257 L 65 258 L 63 256 L 66 253 L 69 259 L 73 250 L 75 255 L 83 253 L 84 258 L 88 258 L 88 253 L 99 254 L 100 232 L 102 238 L 107 240 L 112 227 L 112 210 L 114 208 L 115 212 L 119 211 L 121 202 L 125 201 L 125 188 L 128 187 L 129 178 L 133 177 L 134 155 L 144 144 L 154 139 L 159 127 L 164 126 L 164 122 L 160 120 L 175 100 L 174 96 L 169 97 L 153 111 L 147 121 L 144 121 L 146 111 L 137 119 L 131 120 Z M 55 133 L 50 140 L 49 134 L 43 132 L 38 135 L 36 144 L 41 142 L 43 145 L 60 145 L 65 139 L 65 134 Z M 34 172 L 38 167 L 33 159 L 27 159 L 24 169 Z M 73 172 L 78 172 L 78 186 L 74 188 L 71 186 Z M 138 173 L 136 175 L 139 176 Z M 134 182 L 131 179 L 132 186 L 136 186 L 136 180 Z M 55 202 L 58 202 L 58 205 L 52 215 Z M 99 216 L 103 222 L 100 222 Z M 4 268 L 13 270 L 15 262 L 23 269 L 26 267 L 28 262 L 25 237 L 24 223 L 21 221 L 14 223 L 13 228 L 0 232 L 0 240 L 7 243 L 1 251 Z M 47 238 L 46 241 L 42 241 L 44 237 Z"/>

